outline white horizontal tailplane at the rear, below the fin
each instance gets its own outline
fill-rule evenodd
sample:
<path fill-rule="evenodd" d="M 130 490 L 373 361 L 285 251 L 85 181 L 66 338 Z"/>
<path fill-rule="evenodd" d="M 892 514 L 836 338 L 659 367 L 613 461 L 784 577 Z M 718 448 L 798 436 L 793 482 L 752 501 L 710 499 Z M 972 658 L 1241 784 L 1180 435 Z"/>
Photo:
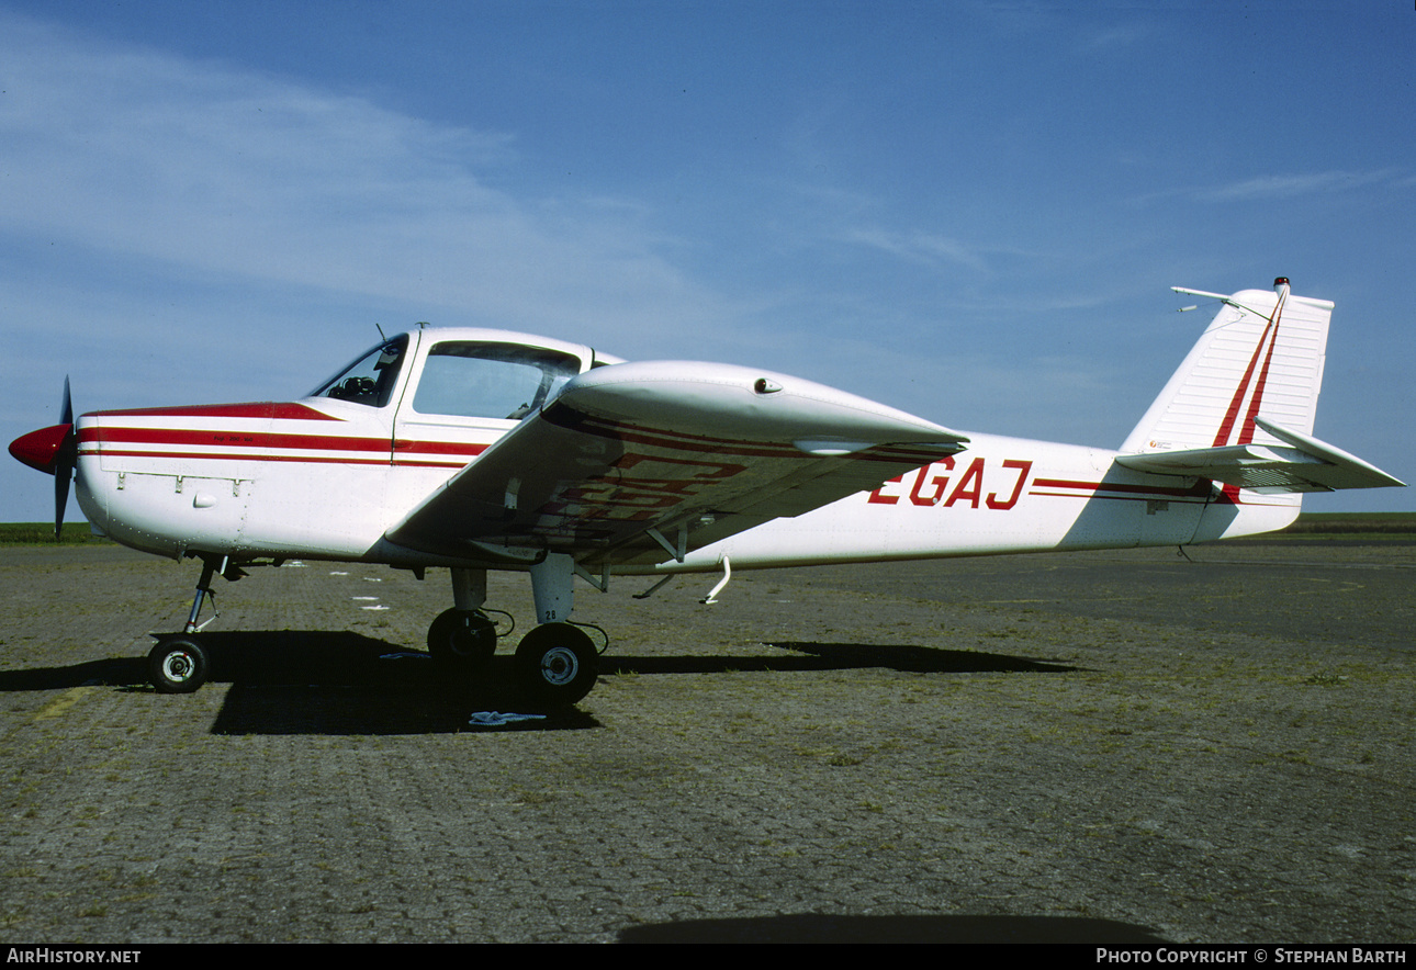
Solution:
<path fill-rule="evenodd" d="M 1177 452 L 1121 455 L 1116 459 L 1137 472 L 1211 479 L 1263 494 L 1335 491 L 1405 484 L 1362 459 L 1308 435 L 1256 418 L 1255 423 L 1281 445 L 1225 445 Z"/>

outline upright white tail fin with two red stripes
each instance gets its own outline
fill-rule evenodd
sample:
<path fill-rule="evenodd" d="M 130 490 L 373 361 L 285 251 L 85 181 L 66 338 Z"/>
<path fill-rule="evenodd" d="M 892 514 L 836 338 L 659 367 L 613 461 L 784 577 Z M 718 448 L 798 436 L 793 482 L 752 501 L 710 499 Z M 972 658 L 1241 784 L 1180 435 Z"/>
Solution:
<path fill-rule="evenodd" d="M 1332 304 L 1291 296 L 1281 276 L 1272 293 L 1205 296 L 1218 296 L 1223 309 L 1127 436 L 1123 453 L 1281 445 L 1255 423 L 1259 416 L 1313 433 Z"/>

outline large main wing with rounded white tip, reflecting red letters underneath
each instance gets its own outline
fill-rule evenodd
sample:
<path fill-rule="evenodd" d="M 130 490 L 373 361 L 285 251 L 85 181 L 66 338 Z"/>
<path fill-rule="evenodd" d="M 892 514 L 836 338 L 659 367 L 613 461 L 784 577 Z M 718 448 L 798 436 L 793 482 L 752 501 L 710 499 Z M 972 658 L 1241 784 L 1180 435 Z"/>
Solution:
<path fill-rule="evenodd" d="M 780 374 L 616 364 L 566 384 L 387 538 L 457 558 L 661 562 L 874 489 L 964 442 Z"/>

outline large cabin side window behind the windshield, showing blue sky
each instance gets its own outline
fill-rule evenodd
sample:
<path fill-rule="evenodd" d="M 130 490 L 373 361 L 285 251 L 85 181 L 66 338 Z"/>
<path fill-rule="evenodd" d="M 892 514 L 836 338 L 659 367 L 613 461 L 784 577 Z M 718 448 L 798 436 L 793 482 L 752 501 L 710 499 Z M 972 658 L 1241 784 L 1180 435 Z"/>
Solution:
<path fill-rule="evenodd" d="M 581 360 L 556 350 L 446 341 L 428 351 L 413 411 L 520 421 L 579 372 Z"/>

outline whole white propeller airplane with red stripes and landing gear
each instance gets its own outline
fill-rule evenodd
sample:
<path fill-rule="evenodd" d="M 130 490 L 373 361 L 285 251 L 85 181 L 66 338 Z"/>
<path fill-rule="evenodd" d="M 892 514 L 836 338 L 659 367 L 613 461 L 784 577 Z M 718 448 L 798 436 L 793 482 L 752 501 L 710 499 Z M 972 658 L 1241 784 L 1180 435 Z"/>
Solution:
<path fill-rule="evenodd" d="M 76 472 L 95 532 L 202 562 L 184 630 L 149 657 L 159 691 L 208 675 L 217 574 L 331 559 L 450 568 L 428 646 L 455 671 L 496 650 L 487 571 L 528 572 L 518 683 L 573 704 L 599 657 L 575 576 L 718 572 L 712 602 L 732 569 L 1185 545 L 1283 528 L 1304 491 L 1403 484 L 1313 438 L 1331 303 L 1283 278 L 1177 292 L 1223 306 L 1116 452 L 963 433 L 755 368 L 430 327 L 287 404 L 75 425 L 65 381 L 62 423 L 10 452 L 55 474 L 57 530 Z"/>

